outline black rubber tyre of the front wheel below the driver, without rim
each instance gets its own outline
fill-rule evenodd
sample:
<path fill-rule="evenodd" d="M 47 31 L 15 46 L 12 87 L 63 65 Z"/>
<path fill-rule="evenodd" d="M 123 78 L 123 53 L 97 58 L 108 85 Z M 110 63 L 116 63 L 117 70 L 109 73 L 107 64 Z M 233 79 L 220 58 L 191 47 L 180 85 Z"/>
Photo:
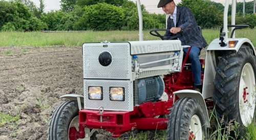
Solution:
<path fill-rule="evenodd" d="M 189 126 L 192 116 L 197 115 L 201 122 L 203 139 L 207 138 L 207 128 L 203 110 L 193 98 L 179 99 L 171 109 L 167 126 L 168 140 L 187 140 L 189 137 Z"/>

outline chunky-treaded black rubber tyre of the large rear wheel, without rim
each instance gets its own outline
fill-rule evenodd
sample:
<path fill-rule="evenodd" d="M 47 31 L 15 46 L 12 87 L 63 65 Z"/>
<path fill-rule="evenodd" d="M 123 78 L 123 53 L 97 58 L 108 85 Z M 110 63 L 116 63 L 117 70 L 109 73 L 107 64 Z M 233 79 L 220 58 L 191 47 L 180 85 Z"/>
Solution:
<path fill-rule="evenodd" d="M 251 64 L 254 75 L 256 74 L 255 56 L 249 46 L 242 45 L 238 53 L 226 52 L 218 59 L 213 95 L 216 114 L 219 121 L 223 118 L 224 125 L 231 120 L 237 121 L 240 124 L 240 134 L 243 134 L 244 125 L 239 110 L 240 77 L 246 63 Z"/>

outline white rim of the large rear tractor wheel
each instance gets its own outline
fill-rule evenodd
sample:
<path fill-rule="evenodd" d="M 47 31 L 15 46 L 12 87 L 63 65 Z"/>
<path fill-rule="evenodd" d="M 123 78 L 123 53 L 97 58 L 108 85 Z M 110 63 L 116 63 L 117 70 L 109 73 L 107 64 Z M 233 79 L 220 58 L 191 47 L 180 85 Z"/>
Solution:
<path fill-rule="evenodd" d="M 246 99 L 244 100 L 244 89 L 246 89 Z M 239 84 L 239 112 L 242 123 L 247 127 L 253 119 L 255 111 L 255 76 L 250 63 L 243 67 Z"/>

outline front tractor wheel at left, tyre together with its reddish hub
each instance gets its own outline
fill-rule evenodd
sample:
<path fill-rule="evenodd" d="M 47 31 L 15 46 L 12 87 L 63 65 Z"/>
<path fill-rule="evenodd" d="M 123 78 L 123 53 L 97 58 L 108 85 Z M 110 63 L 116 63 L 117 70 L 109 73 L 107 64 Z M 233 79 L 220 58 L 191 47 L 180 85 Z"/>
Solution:
<path fill-rule="evenodd" d="M 48 140 L 76 140 L 79 137 L 77 101 L 62 103 L 52 114 L 48 130 Z M 86 131 L 89 128 L 86 128 Z M 90 129 L 89 129 L 90 131 Z M 94 135 L 90 139 L 95 139 Z"/>

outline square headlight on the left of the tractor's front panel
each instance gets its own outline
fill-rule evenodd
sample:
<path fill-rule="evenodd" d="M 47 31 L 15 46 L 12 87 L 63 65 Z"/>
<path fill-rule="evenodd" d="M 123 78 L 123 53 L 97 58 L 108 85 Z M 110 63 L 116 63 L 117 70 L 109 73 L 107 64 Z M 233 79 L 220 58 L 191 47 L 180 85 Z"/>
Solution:
<path fill-rule="evenodd" d="M 101 86 L 89 86 L 89 99 L 90 100 L 102 100 L 102 87 Z"/>

